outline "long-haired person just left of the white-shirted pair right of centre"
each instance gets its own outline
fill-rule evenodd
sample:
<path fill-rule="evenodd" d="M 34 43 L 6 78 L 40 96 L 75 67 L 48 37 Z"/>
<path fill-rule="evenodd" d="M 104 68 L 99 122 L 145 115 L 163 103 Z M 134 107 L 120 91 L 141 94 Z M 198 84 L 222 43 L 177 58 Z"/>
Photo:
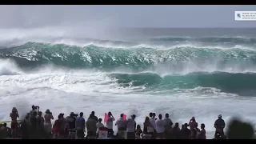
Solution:
<path fill-rule="evenodd" d="M 150 118 L 146 117 L 143 123 L 143 138 L 151 139 L 153 138 L 153 133 L 154 133 L 154 127 L 150 122 Z"/>

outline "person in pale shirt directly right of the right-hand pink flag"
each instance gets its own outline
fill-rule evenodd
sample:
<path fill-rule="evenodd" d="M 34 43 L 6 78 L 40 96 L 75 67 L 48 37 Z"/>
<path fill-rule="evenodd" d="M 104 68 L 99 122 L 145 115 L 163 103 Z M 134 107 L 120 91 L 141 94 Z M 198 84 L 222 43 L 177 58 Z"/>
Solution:
<path fill-rule="evenodd" d="M 127 125 L 126 125 L 127 139 L 135 139 L 135 129 L 136 129 L 135 118 L 136 118 L 136 115 L 133 114 L 131 118 L 127 120 Z"/>

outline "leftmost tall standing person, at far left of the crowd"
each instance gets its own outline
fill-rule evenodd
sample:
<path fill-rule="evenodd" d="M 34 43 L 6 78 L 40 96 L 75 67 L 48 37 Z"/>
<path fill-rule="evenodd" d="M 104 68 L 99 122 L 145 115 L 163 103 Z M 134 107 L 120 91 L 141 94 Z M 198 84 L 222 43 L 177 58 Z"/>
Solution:
<path fill-rule="evenodd" d="M 16 136 L 17 136 L 17 130 L 18 130 L 17 118 L 18 117 L 19 117 L 18 110 L 16 109 L 16 107 L 14 107 L 10 113 L 10 118 L 11 118 L 10 128 L 11 128 L 11 137 L 12 138 L 16 138 Z"/>

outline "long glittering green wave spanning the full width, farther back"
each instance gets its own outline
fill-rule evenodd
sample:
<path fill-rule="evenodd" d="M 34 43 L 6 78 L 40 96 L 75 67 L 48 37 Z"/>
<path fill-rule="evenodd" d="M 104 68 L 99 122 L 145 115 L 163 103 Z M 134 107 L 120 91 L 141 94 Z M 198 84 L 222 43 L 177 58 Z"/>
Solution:
<path fill-rule="evenodd" d="M 187 67 L 207 70 L 247 70 L 256 64 L 256 51 L 246 49 L 210 49 L 203 47 L 152 48 L 106 48 L 102 46 L 69 46 L 27 42 L 21 46 L 0 49 L 0 58 L 10 58 L 20 67 L 37 67 L 45 64 L 70 68 L 95 68 L 114 70 L 119 67 L 130 70 L 173 71 Z M 206 70 L 206 71 L 207 71 Z M 250 70 L 249 70 L 250 72 Z"/>

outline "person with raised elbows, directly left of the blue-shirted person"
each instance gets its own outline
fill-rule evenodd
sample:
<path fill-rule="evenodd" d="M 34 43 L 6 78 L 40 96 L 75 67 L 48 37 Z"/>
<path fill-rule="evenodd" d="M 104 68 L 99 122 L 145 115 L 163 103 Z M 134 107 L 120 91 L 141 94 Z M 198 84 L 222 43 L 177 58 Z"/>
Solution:
<path fill-rule="evenodd" d="M 71 112 L 70 116 L 66 118 L 70 139 L 75 139 L 76 137 L 75 122 L 77 117 L 78 117 L 78 114 L 74 114 L 74 112 Z"/>

